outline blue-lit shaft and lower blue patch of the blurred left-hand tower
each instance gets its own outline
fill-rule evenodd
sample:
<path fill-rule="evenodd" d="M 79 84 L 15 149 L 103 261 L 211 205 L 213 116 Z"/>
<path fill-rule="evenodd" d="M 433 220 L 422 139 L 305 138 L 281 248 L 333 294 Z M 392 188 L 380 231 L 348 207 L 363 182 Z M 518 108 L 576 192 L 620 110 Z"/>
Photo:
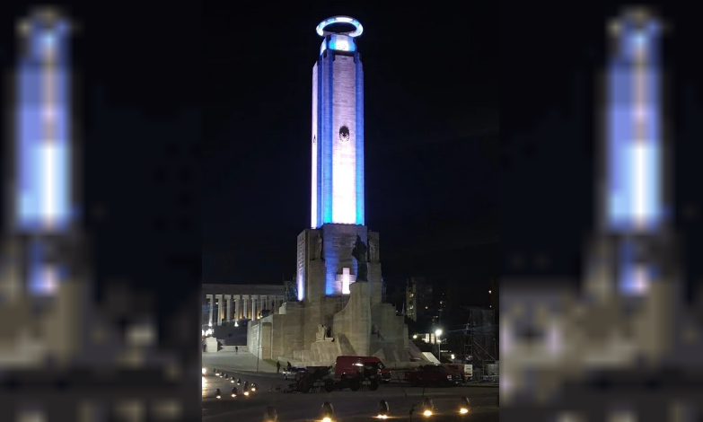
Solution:
<path fill-rule="evenodd" d="M 53 295 L 66 277 L 57 239 L 75 220 L 71 186 L 68 23 L 50 11 L 22 26 L 25 51 L 16 73 L 13 231 L 28 239 L 26 282 Z"/>

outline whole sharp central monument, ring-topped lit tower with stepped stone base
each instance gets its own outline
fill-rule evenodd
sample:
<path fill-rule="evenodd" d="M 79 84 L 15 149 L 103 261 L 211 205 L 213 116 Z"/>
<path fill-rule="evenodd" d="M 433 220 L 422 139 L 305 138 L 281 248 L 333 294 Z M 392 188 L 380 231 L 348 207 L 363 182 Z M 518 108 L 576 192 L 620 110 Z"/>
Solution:
<path fill-rule="evenodd" d="M 339 24 L 353 30 L 330 31 Z M 270 356 L 305 365 L 330 365 L 340 355 L 407 361 L 408 328 L 382 303 L 379 236 L 365 226 L 364 70 L 356 46 L 364 29 L 335 16 L 316 31 L 324 40 L 312 66 L 312 221 L 297 239 L 297 301 L 261 320 L 260 332 L 271 339 Z"/>

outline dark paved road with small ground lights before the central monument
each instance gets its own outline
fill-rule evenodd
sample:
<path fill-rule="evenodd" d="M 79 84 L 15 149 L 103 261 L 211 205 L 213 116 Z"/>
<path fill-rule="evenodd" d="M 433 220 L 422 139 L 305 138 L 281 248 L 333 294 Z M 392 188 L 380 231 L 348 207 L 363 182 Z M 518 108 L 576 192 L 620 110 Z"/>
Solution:
<path fill-rule="evenodd" d="M 254 367 L 252 367 L 252 362 Z M 413 418 L 430 419 L 433 422 L 462 420 L 462 421 L 497 421 L 497 388 L 490 387 L 455 387 L 455 388 L 411 388 L 402 382 L 391 382 L 382 385 L 377 391 L 333 391 L 330 393 L 283 393 L 276 391 L 278 385 L 286 386 L 288 382 L 283 376 L 276 374 L 265 362 L 259 362 L 259 373 L 256 373 L 256 359 L 249 354 L 241 356 L 203 355 L 203 365 L 208 374 L 203 377 L 203 413 L 202 420 L 208 422 L 240 421 L 260 422 L 268 406 L 277 410 L 278 421 L 299 422 L 319 421 L 322 403 L 330 401 L 335 409 L 335 421 L 368 421 L 375 415 L 380 400 L 387 400 L 391 408 L 391 418 L 410 420 L 409 409 L 429 397 L 435 404 L 435 416 L 424 418 L 416 411 Z M 235 399 L 230 397 L 233 384 L 223 378 L 210 374 L 213 367 L 223 370 L 225 374 L 241 378 L 240 393 L 244 381 L 256 382 L 259 391 L 249 397 L 242 394 Z M 215 399 L 215 390 L 223 393 L 221 400 Z M 469 398 L 470 413 L 459 414 L 460 399 Z M 400 422 L 400 420 L 399 420 Z"/>

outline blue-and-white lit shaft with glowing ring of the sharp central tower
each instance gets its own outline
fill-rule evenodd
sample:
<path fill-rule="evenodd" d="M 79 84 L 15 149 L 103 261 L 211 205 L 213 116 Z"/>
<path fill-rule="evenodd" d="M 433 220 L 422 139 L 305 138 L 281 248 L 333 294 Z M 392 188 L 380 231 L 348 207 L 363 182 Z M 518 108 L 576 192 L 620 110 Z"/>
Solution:
<path fill-rule="evenodd" d="M 338 22 L 355 30 L 325 31 Z M 311 225 L 364 225 L 364 69 L 355 42 L 364 30 L 356 19 L 336 16 L 316 31 L 325 40 L 312 70 Z"/>

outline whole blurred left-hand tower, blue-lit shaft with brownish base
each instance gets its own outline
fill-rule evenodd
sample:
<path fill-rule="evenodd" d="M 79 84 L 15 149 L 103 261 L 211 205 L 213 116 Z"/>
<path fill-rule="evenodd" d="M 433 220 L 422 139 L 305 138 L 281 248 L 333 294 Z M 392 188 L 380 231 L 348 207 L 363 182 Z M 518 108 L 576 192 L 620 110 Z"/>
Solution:
<path fill-rule="evenodd" d="M 85 262 L 75 222 L 70 31 L 66 18 L 51 9 L 32 13 L 19 26 L 22 56 L 12 77 L 6 147 L 2 285 L 9 300 L 3 312 L 16 312 L 5 324 L 22 321 L 41 334 L 21 336 L 15 327 L 17 338 L 4 345 L 7 354 L 0 351 L 4 363 L 42 362 L 47 355 L 62 361 L 80 345 L 76 301 L 82 298 L 75 282 L 84 277 Z"/>

